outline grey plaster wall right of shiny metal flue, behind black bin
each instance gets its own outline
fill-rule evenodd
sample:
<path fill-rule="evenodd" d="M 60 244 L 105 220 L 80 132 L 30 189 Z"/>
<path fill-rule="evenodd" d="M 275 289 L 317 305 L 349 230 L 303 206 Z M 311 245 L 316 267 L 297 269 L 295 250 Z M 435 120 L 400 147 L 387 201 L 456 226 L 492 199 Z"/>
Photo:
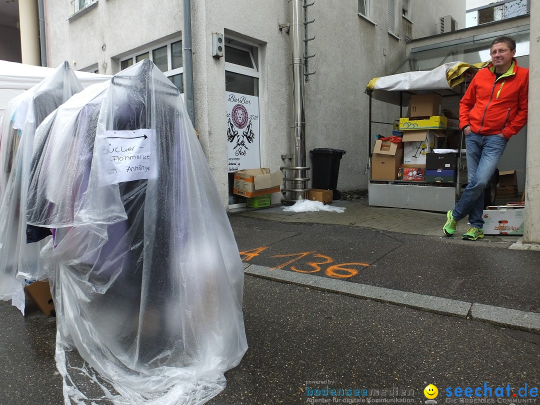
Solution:
<path fill-rule="evenodd" d="M 340 162 L 340 191 L 367 189 L 366 85 L 374 77 L 387 75 L 405 57 L 403 33 L 401 40 L 388 34 L 386 2 L 372 2 L 372 6 L 370 19 L 376 25 L 358 15 L 356 0 L 315 2 L 308 9 L 309 19 L 315 19 L 309 25 L 309 36 L 315 36 L 309 43 L 309 53 L 315 53 L 309 69 L 316 73 L 306 84 L 306 149 L 347 152 Z M 399 23 L 401 31 L 410 24 L 401 16 Z M 382 108 L 377 120 L 391 123 L 399 118 L 392 106 Z M 386 129 L 392 133 L 391 126 Z"/>

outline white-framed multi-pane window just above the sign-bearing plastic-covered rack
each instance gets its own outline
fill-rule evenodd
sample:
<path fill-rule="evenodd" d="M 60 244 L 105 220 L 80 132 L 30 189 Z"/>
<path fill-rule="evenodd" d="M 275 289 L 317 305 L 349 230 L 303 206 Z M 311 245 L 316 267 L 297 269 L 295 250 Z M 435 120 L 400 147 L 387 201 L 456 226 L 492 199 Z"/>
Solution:
<path fill-rule="evenodd" d="M 150 59 L 167 76 L 171 82 L 184 92 L 183 74 L 184 68 L 182 65 L 182 41 L 173 43 L 161 44 L 151 49 L 146 49 L 138 52 L 136 55 L 129 56 L 120 60 L 120 68 L 122 70 L 129 68 L 134 63 L 144 59 Z"/>

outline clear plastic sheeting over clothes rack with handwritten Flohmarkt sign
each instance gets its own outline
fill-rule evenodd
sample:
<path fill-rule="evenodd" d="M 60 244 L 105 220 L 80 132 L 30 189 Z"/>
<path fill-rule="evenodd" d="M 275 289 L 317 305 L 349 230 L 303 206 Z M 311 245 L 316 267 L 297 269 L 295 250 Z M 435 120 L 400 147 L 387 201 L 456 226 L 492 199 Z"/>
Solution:
<path fill-rule="evenodd" d="M 178 89 L 144 60 L 38 133 L 28 221 L 58 228 L 44 255 L 65 403 L 208 401 L 247 350 L 244 271 Z"/>

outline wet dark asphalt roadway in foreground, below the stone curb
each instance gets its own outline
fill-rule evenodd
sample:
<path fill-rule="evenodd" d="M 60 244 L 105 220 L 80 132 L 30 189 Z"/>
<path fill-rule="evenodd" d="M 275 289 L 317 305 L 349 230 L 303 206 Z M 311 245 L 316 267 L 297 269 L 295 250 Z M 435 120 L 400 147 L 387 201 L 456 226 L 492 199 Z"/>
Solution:
<path fill-rule="evenodd" d="M 0 313 L 9 325 L 0 332 L 0 404 L 62 404 L 54 318 L 23 318 L 6 302 Z M 252 276 L 245 279 L 244 316 L 249 349 L 208 404 L 312 403 L 328 397 L 310 390 L 326 387 L 367 390 L 327 403 L 423 403 L 429 383 L 442 403 L 447 387 L 510 384 L 512 394 L 525 383 L 539 386 L 538 334 Z"/>

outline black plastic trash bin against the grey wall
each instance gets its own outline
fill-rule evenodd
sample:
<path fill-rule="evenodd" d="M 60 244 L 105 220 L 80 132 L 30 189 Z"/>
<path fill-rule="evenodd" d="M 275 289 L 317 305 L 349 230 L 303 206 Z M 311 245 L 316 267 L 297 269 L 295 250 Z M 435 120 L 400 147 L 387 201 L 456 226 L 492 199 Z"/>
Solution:
<path fill-rule="evenodd" d="M 341 198 L 338 188 L 339 163 L 341 157 L 347 153 L 340 149 L 330 149 L 327 147 L 317 147 L 311 153 L 312 161 L 312 187 L 322 188 L 322 190 L 332 190 L 334 200 Z"/>

